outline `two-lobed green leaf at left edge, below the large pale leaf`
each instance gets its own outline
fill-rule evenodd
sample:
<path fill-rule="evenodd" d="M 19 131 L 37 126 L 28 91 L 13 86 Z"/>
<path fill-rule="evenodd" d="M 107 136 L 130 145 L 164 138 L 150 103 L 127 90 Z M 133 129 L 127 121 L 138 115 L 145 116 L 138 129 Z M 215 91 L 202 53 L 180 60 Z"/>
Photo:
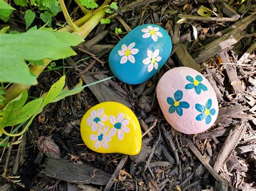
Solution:
<path fill-rule="evenodd" d="M 10 101 L 6 107 L 0 111 L 0 129 L 5 126 L 17 125 L 27 121 L 36 113 L 40 105 L 42 105 L 43 98 L 38 98 L 24 105 L 26 98 L 28 98 L 28 91 L 24 90 L 18 97 Z"/>

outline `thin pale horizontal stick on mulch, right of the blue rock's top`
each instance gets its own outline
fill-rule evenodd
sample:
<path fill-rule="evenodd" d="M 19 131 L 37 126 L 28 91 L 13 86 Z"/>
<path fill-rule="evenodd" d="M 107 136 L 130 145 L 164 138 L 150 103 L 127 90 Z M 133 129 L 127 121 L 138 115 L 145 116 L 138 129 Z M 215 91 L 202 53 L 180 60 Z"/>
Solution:
<path fill-rule="evenodd" d="M 228 18 L 228 17 L 200 17 L 200 16 L 193 16 L 193 15 L 184 15 L 179 14 L 179 18 L 188 19 L 188 20 L 202 20 L 202 21 L 214 21 L 214 22 L 236 22 L 238 19 L 236 18 Z"/>

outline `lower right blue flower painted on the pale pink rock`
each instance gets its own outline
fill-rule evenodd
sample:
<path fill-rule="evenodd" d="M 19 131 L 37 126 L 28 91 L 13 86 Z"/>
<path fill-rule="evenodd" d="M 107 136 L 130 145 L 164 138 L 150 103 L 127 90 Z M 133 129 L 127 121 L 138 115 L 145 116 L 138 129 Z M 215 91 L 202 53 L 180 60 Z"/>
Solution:
<path fill-rule="evenodd" d="M 199 103 L 196 104 L 196 109 L 201 112 L 201 114 L 199 114 L 196 119 L 197 121 L 202 121 L 205 118 L 205 123 L 206 125 L 211 123 L 212 121 L 212 117 L 211 115 L 215 115 L 216 111 L 215 109 L 211 109 L 212 107 L 212 100 L 209 99 L 205 106 L 201 105 Z"/>

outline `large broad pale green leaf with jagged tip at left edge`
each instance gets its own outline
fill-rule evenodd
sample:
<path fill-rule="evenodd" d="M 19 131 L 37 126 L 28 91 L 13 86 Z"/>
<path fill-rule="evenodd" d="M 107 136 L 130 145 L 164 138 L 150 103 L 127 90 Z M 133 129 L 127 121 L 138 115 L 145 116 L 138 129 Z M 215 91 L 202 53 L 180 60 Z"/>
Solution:
<path fill-rule="evenodd" d="M 0 81 L 36 84 L 24 60 L 58 60 L 76 55 L 70 46 L 83 39 L 69 32 L 29 30 L 18 34 L 0 33 Z"/>

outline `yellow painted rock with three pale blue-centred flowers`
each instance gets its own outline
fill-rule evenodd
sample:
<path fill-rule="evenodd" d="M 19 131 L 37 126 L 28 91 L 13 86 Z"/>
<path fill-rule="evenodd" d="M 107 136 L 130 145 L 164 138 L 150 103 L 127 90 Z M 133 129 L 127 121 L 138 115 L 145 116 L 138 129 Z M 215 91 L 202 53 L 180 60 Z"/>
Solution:
<path fill-rule="evenodd" d="M 138 154 L 142 131 L 135 114 L 117 102 L 103 102 L 84 115 L 81 135 L 87 147 L 100 153 Z"/>

